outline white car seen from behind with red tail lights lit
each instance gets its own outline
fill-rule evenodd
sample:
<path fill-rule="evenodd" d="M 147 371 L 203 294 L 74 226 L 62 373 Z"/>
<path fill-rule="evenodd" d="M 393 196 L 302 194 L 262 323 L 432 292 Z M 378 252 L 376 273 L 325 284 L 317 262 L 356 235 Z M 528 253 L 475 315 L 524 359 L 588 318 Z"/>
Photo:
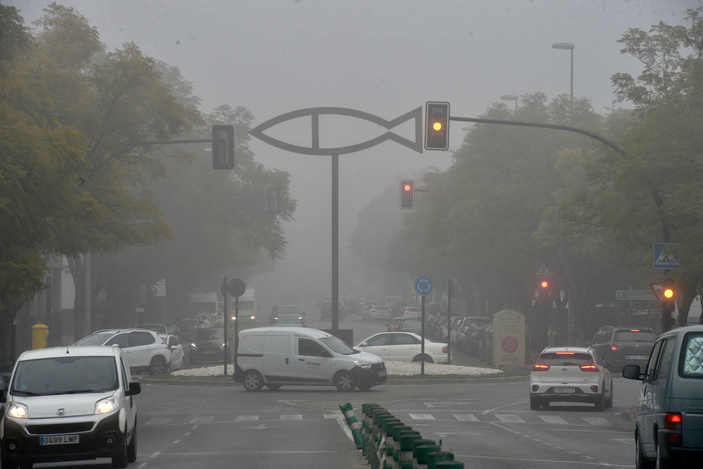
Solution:
<path fill-rule="evenodd" d="M 613 380 L 598 352 L 590 347 L 547 347 L 532 366 L 529 406 L 550 402 L 592 402 L 602 411 L 613 405 Z"/>

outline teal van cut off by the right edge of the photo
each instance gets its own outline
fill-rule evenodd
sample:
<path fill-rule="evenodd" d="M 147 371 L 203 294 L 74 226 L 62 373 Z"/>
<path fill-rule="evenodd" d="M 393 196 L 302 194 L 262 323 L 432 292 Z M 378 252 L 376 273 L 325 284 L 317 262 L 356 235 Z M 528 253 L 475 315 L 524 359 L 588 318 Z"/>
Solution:
<path fill-rule="evenodd" d="M 681 468 L 703 456 L 703 325 L 669 330 L 654 341 L 643 371 L 635 427 L 636 467 Z M 700 466 L 698 466 L 700 467 Z"/>

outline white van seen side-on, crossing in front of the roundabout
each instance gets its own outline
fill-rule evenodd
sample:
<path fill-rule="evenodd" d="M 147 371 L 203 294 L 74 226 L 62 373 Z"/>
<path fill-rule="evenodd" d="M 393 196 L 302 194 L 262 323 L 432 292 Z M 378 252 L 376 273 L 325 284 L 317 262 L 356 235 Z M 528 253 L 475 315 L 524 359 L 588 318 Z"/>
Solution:
<path fill-rule="evenodd" d="M 299 327 L 263 327 L 239 333 L 234 380 L 247 391 L 266 385 L 336 386 L 369 390 L 386 382 L 380 357 L 359 352 L 332 334 Z"/>

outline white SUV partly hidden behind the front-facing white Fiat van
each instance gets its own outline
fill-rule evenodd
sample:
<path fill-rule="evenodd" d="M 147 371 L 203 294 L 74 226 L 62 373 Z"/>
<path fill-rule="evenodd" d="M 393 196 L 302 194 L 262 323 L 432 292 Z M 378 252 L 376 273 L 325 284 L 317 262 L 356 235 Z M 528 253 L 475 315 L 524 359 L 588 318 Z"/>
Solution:
<path fill-rule="evenodd" d="M 147 329 L 104 329 L 86 335 L 74 345 L 119 345 L 133 373 L 160 375 L 171 367 L 165 338 Z"/>

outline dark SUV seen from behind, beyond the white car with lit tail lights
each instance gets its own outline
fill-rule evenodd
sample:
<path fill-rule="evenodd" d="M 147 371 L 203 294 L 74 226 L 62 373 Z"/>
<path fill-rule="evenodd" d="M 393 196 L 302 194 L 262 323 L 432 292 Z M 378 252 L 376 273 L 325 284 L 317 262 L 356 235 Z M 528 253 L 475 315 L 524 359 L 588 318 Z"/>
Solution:
<path fill-rule="evenodd" d="M 602 326 L 586 342 L 598 351 L 610 368 L 619 371 L 625 365 L 639 365 L 644 368 L 652 352 L 657 335 L 654 329 L 639 326 Z"/>

